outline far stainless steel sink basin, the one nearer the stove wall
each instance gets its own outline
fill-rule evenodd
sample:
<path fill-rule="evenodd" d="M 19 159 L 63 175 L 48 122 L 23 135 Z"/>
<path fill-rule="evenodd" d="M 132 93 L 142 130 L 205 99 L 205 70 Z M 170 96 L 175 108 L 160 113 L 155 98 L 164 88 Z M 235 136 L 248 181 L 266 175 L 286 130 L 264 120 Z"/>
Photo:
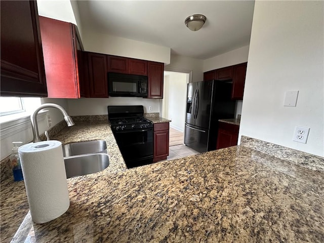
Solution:
<path fill-rule="evenodd" d="M 63 148 L 63 157 L 69 157 L 88 153 L 107 153 L 107 144 L 104 140 L 94 140 L 86 142 L 69 143 Z"/>

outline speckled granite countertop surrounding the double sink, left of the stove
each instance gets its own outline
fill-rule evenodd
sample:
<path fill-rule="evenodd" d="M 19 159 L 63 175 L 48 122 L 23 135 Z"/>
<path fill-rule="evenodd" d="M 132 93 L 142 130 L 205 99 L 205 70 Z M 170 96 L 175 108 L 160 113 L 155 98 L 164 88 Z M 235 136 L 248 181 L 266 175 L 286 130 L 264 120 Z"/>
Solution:
<path fill-rule="evenodd" d="M 107 121 L 78 121 L 75 126 L 66 127 L 51 140 L 61 141 L 62 144 L 79 141 L 105 140 L 109 155 L 109 166 L 102 172 L 102 176 L 117 173 L 127 169 L 123 156 L 121 156 L 116 140 Z M 98 173 L 92 175 L 70 178 L 68 181 L 91 180 Z M 14 182 L 13 177 L 1 182 L 1 242 L 10 242 L 19 225 L 29 211 L 23 181 Z"/>

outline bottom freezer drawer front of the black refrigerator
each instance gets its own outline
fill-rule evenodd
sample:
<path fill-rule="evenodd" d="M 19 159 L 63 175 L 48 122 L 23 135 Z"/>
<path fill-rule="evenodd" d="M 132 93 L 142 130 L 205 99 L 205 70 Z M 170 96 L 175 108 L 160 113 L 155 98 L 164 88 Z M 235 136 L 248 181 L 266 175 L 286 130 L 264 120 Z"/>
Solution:
<path fill-rule="evenodd" d="M 208 148 L 209 130 L 185 124 L 184 144 L 202 153 Z"/>

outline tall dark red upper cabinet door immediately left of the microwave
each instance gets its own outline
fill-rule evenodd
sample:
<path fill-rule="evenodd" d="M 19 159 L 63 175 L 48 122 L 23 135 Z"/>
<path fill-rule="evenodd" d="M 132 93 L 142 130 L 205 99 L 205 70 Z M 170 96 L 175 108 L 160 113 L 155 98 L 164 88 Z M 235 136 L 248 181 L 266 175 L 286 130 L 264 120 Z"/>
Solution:
<path fill-rule="evenodd" d="M 88 52 L 91 98 L 108 98 L 106 55 Z"/>

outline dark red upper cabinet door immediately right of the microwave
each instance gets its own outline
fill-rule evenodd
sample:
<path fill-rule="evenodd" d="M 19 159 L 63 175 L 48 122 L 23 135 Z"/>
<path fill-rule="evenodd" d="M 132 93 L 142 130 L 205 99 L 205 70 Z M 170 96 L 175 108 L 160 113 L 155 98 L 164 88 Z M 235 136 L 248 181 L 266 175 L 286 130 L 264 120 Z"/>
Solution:
<path fill-rule="evenodd" d="M 163 99 L 164 63 L 147 62 L 148 97 Z"/>

